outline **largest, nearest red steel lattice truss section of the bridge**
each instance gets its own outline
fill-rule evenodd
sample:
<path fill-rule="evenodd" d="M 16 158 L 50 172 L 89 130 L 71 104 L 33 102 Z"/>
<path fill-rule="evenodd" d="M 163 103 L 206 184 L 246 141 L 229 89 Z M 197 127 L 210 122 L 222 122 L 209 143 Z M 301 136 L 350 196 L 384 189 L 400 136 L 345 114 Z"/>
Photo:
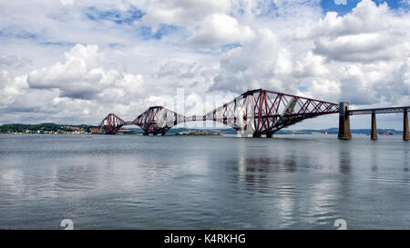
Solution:
<path fill-rule="evenodd" d="M 204 119 L 226 124 L 242 134 L 273 134 L 306 118 L 338 112 L 339 104 L 259 89 L 241 94 Z"/>

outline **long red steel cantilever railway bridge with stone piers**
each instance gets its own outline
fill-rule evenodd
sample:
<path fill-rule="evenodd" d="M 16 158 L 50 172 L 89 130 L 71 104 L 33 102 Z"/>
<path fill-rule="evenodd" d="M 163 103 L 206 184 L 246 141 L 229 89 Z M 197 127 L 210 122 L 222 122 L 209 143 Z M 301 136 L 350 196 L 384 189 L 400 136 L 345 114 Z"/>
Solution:
<path fill-rule="evenodd" d="M 409 110 L 410 106 L 349 110 L 348 103 L 333 104 L 292 94 L 257 89 L 247 91 L 205 115 L 184 116 L 163 106 L 151 106 L 133 121 L 124 121 L 116 114 L 108 114 L 99 126 L 105 130 L 106 134 L 117 134 L 122 126 L 135 124 L 144 131 L 144 134 L 164 135 L 172 126 L 180 123 L 213 121 L 230 126 L 242 137 L 261 137 L 261 135 L 272 137 L 272 134 L 282 128 L 304 119 L 338 113 L 339 138 L 350 139 L 352 135 L 350 134 L 349 115 L 372 114 L 373 133 L 375 132 L 374 114 L 405 113 L 404 126 L 407 128 L 404 128 L 404 138 L 408 140 L 410 139 L 407 121 Z M 375 135 L 377 135 L 376 132 Z M 374 135 L 372 138 L 374 139 Z"/>

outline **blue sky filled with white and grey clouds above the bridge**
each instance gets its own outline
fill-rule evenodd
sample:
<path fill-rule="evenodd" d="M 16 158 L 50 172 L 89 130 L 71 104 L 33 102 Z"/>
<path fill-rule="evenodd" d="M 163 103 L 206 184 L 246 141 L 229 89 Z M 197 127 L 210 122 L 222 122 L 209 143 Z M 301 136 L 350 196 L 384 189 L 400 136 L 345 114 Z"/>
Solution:
<path fill-rule="evenodd" d="M 0 124 L 97 125 L 150 105 L 204 114 L 256 88 L 410 105 L 409 11 L 409 0 L 0 0 Z M 403 114 L 377 125 L 403 130 Z"/>

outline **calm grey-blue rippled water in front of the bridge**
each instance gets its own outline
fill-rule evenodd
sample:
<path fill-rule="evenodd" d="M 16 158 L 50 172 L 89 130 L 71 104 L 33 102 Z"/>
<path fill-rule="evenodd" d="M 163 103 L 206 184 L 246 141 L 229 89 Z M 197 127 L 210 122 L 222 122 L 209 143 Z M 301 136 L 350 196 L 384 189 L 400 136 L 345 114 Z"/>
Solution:
<path fill-rule="evenodd" d="M 0 135 L 0 229 L 410 229 L 410 142 Z"/>

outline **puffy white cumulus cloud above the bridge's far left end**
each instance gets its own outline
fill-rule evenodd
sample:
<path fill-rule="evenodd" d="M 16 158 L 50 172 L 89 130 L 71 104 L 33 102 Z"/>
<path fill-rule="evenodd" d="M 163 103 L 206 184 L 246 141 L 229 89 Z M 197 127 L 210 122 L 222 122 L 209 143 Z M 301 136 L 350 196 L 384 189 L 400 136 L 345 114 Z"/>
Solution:
<path fill-rule="evenodd" d="M 97 45 L 75 45 L 65 54 L 63 63 L 30 72 L 27 82 L 31 88 L 58 89 L 60 96 L 78 99 L 93 99 L 98 94 L 122 98 L 144 92 L 141 75 L 105 69 L 101 66 L 103 59 Z"/>

